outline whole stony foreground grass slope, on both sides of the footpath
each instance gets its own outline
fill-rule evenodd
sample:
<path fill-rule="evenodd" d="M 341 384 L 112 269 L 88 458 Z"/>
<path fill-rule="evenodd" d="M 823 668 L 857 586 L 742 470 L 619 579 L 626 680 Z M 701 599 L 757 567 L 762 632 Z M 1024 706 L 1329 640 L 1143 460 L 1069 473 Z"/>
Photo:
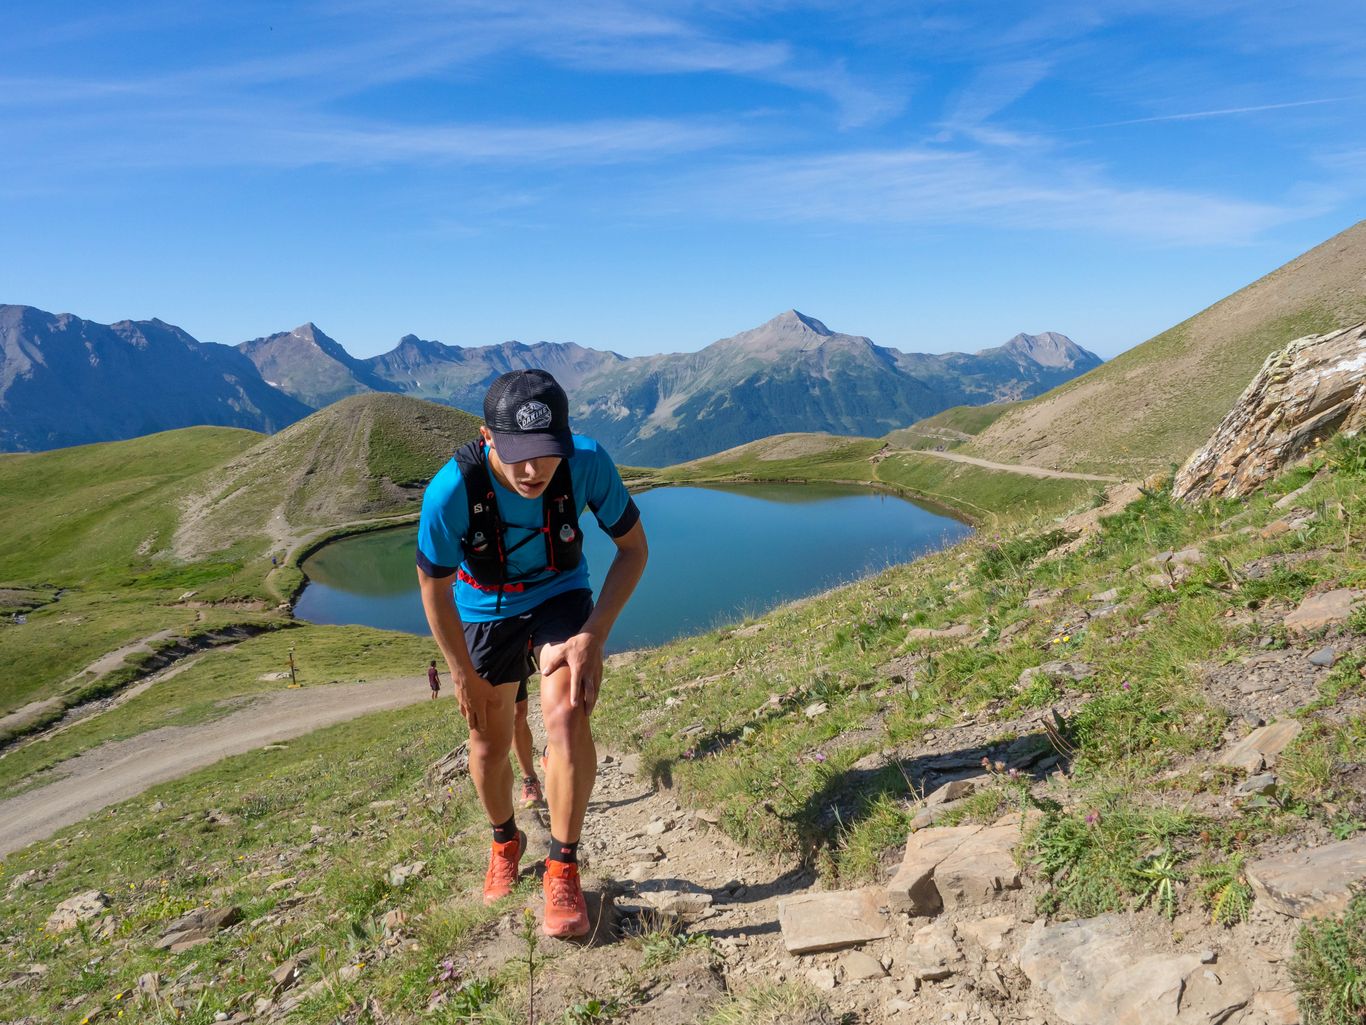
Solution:
<path fill-rule="evenodd" d="M 1030 812 L 1019 850 L 1024 894 L 993 913 L 1134 916 L 1135 928 L 1168 929 L 1173 948 L 1216 948 L 1228 973 L 1235 951 L 1268 943 L 1244 865 L 1366 830 L 1366 610 L 1328 637 L 1283 625 L 1306 594 L 1366 588 L 1356 537 L 1363 474 L 1366 441 L 1336 441 L 1249 502 L 1191 508 L 1150 493 L 1065 555 L 1049 522 L 979 534 L 743 627 L 613 660 L 596 722 L 617 750 L 639 750 L 642 772 L 668 780 L 672 797 L 777 856 L 783 879 L 799 860 L 828 886 L 885 879 L 921 794 L 944 779 L 943 763 L 985 760 L 975 791 L 938 824 Z M 1305 484 L 1291 510 L 1273 508 Z M 1268 529 L 1285 515 L 1299 526 Z M 1173 548 L 1202 559 L 1158 571 L 1152 559 Z M 966 634 L 908 633 L 962 626 Z M 1325 642 L 1340 652 L 1332 668 L 1296 670 L 1294 685 L 1270 690 L 1239 687 L 1250 659 L 1281 652 L 1303 661 Z M 251 686 L 277 656 L 268 642 L 245 645 L 220 661 L 221 675 Z M 1048 660 L 1085 663 L 1090 675 L 1026 674 Z M 1239 797 L 1242 776 L 1210 767 L 1253 715 L 1303 727 L 1265 800 Z M 14 1015 L 108 1021 L 123 1009 L 133 1020 L 209 1025 L 277 992 L 272 970 L 298 955 L 291 994 L 302 1002 L 291 1021 L 511 1025 L 526 1020 L 530 950 L 545 958 L 538 979 L 559 973 L 585 987 L 538 1003 L 542 1021 L 630 1020 L 664 988 L 632 973 L 709 950 L 706 922 L 598 950 L 522 940 L 516 910 L 534 883 L 508 905 L 478 903 L 486 824 L 463 779 L 444 793 L 423 780 L 459 734 L 452 718 L 451 702 L 422 702 L 235 757 L 7 858 L 0 962 L 15 979 L 5 998 Z M 1057 748 L 1045 719 L 1057 726 Z M 392 866 L 414 861 L 423 869 L 411 882 L 391 882 Z M 26 872 L 34 875 L 12 883 Z M 108 913 L 81 931 L 44 928 L 59 901 L 92 888 L 111 895 Z M 1358 924 L 1361 903 L 1351 912 Z M 167 922 L 202 906 L 240 907 L 249 924 L 191 951 L 153 950 Z M 1315 961 L 1329 928 L 1347 940 L 1329 951 L 1336 961 Z M 1343 988 L 1366 970 L 1354 928 L 1306 927 L 1309 953 L 1291 966 L 1306 1014 L 1335 994 L 1355 999 Z M 761 974 L 742 985 L 779 972 L 791 984 L 811 964 L 783 959 L 762 931 L 747 947 Z M 750 957 L 731 951 L 732 961 Z M 622 969 L 611 989 L 607 961 Z M 142 1003 L 135 985 L 145 973 L 157 973 L 161 994 Z M 1023 1000 L 1023 989 L 1004 999 Z M 943 991 L 928 992 L 912 1020 L 938 1020 Z M 676 1020 L 837 1020 L 750 1017 L 717 1000 Z"/>

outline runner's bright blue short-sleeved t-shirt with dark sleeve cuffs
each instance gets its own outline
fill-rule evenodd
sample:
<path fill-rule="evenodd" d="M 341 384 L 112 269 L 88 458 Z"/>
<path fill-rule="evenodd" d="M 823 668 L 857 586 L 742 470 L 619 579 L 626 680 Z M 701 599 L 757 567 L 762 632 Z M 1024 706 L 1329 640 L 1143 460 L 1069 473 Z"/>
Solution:
<path fill-rule="evenodd" d="M 486 448 L 484 462 L 488 466 Z M 574 481 L 574 506 L 581 519 L 583 510 L 591 507 L 598 526 L 609 537 L 622 537 L 641 518 L 612 456 L 591 437 L 574 436 L 570 477 Z M 456 574 L 455 607 L 460 619 L 467 623 L 507 619 L 527 612 L 556 594 L 590 586 L 587 558 L 581 559 L 572 570 L 550 573 L 546 570 L 544 544 L 531 541 L 511 551 L 525 537 L 538 533 L 545 523 L 541 499 L 523 499 L 504 488 L 492 469 L 489 480 L 493 482 L 499 518 L 504 525 L 504 545 L 510 549 L 508 575 L 522 585 L 519 590 L 504 589 L 501 605 L 497 588 L 485 590 L 477 586 L 464 563 L 460 540 L 470 529 L 470 506 L 464 496 L 464 478 L 455 459 L 437 472 L 422 496 L 418 567 L 429 577 Z"/>

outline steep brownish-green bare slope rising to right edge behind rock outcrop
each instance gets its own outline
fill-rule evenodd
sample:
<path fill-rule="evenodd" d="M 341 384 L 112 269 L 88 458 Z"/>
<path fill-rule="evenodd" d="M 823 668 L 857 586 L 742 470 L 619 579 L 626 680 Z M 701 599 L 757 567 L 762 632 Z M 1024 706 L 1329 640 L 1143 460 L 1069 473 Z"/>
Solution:
<path fill-rule="evenodd" d="M 1366 221 L 1104 366 L 1022 403 L 964 451 L 1142 477 L 1183 461 L 1287 342 L 1366 320 Z"/>

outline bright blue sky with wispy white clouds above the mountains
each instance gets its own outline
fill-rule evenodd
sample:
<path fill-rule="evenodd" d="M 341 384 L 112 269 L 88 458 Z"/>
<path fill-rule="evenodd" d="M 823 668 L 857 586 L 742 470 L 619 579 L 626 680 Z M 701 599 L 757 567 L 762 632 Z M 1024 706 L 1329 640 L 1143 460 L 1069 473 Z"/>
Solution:
<path fill-rule="evenodd" d="M 1113 355 L 1366 217 L 1366 4 L 57 3 L 0 302 L 695 350 L 796 308 Z"/>

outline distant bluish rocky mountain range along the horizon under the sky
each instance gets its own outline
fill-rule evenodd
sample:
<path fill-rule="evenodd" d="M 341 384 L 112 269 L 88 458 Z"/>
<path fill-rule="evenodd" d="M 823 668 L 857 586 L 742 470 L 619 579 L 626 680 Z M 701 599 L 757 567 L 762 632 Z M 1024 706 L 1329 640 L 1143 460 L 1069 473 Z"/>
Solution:
<path fill-rule="evenodd" d="M 1038 395 L 1101 362 L 1055 332 L 974 354 L 902 353 L 796 310 L 697 353 L 628 358 L 572 343 L 462 347 L 406 335 L 358 359 L 314 324 L 234 348 L 158 320 L 105 327 L 26 306 L 0 306 L 0 359 L 8 451 L 191 424 L 272 432 L 366 392 L 478 414 L 494 377 L 538 366 L 570 392 L 575 429 L 623 462 L 654 466 L 788 430 L 880 436 L 951 406 Z"/>

